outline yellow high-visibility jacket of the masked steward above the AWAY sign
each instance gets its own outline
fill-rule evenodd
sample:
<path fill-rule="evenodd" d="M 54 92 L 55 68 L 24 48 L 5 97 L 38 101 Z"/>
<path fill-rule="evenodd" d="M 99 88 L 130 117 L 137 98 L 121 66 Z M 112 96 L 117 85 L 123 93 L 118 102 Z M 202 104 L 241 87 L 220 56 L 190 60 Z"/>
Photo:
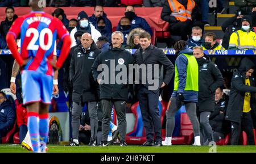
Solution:
<path fill-rule="evenodd" d="M 253 31 L 237 30 L 230 35 L 229 47 L 237 49 L 256 49 L 256 34 Z"/>

